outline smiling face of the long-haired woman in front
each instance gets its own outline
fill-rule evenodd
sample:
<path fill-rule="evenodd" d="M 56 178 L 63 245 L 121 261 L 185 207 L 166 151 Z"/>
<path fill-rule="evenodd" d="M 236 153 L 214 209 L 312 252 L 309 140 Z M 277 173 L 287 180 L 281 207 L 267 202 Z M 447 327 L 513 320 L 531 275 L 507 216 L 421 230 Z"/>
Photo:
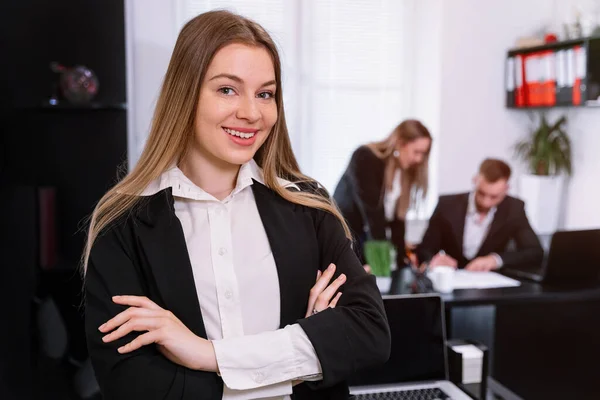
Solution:
<path fill-rule="evenodd" d="M 277 121 L 275 69 L 263 47 L 229 44 L 201 84 L 194 147 L 211 163 L 250 161 Z"/>

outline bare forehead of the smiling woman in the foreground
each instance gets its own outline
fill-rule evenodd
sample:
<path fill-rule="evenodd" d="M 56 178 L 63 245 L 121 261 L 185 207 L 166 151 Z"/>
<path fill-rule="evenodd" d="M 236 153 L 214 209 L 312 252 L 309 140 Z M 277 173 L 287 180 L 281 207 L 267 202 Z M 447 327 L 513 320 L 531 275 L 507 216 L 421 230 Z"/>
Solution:
<path fill-rule="evenodd" d="M 264 47 L 231 43 L 217 51 L 208 66 L 206 79 L 219 74 L 235 75 L 249 83 L 260 81 L 262 84 L 275 79 L 275 68 Z"/>

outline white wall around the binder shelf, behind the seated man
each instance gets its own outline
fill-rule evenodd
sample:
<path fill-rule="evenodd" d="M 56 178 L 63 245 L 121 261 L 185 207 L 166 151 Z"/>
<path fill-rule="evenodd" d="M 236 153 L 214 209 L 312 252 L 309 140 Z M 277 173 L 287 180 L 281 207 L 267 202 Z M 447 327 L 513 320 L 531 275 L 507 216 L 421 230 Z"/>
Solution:
<path fill-rule="evenodd" d="M 593 1 L 593 0 L 592 0 Z M 468 190 L 485 157 L 510 161 L 523 171 L 512 145 L 527 133 L 526 112 L 504 106 L 504 59 L 519 36 L 569 20 L 573 6 L 590 0 L 453 0 L 443 9 L 441 49 L 439 192 Z M 600 226 L 600 110 L 563 109 L 574 146 L 564 227 Z M 549 114 L 551 119 L 559 112 Z M 516 192 L 517 179 L 513 179 Z"/>

